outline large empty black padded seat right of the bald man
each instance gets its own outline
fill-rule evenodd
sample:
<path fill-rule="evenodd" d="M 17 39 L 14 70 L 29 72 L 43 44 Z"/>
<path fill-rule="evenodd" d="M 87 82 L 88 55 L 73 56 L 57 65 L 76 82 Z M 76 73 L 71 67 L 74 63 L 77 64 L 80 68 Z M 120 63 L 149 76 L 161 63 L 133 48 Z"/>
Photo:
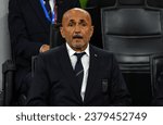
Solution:
<path fill-rule="evenodd" d="M 115 54 L 134 105 L 149 105 L 150 55 L 163 52 L 163 10 L 146 0 L 117 0 L 101 16 L 103 48 Z"/>

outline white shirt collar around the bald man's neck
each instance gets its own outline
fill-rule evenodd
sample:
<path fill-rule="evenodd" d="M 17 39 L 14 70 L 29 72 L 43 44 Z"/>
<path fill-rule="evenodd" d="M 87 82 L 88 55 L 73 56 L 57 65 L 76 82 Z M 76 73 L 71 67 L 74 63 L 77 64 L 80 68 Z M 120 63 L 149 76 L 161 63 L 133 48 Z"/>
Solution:
<path fill-rule="evenodd" d="M 67 52 L 68 52 L 68 55 L 70 57 L 72 57 L 72 55 L 74 55 L 74 53 L 76 53 L 76 51 L 74 51 L 71 47 L 70 47 L 70 45 L 66 42 L 66 49 L 67 49 Z M 83 52 L 86 52 L 86 54 L 89 57 L 90 55 L 90 53 L 89 53 L 89 43 L 88 43 L 88 46 L 87 46 L 87 48 L 85 49 L 85 51 L 83 51 Z"/>

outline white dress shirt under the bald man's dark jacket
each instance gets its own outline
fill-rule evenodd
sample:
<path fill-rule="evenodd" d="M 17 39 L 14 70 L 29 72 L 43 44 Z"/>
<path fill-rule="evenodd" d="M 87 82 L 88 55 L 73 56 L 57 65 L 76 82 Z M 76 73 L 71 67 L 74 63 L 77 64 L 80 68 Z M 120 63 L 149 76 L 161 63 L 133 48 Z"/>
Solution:
<path fill-rule="evenodd" d="M 67 43 L 66 43 L 66 48 L 67 48 L 67 52 L 68 52 L 70 59 L 71 59 L 72 66 L 73 66 L 73 68 L 75 68 L 75 65 L 77 62 L 77 57 L 74 55 L 74 53 L 76 53 L 76 51 L 74 51 Z M 83 52 L 86 52 L 86 54 L 84 54 L 82 57 L 82 64 L 84 66 L 84 78 L 83 78 L 83 84 L 82 84 L 80 96 L 84 100 L 85 92 L 86 92 L 86 86 L 87 86 L 87 79 L 88 79 L 89 60 L 90 60 L 89 45 L 87 46 L 86 50 Z"/>

